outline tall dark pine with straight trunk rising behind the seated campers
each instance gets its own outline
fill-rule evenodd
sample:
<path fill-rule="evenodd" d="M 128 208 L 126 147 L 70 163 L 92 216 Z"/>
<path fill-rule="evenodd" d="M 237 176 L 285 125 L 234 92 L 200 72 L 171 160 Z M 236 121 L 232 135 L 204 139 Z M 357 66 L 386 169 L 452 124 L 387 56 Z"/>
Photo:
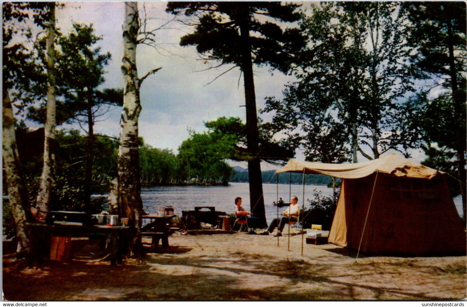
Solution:
<path fill-rule="evenodd" d="M 194 45 L 205 59 L 219 65 L 233 64 L 243 73 L 250 206 L 264 226 L 253 64 L 289 70 L 293 54 L 303 46 L 304 39 L 297 29 L 283 30 L 274 22 L 297 21 L 297 7 L 280 2 L 169 2 L 167 6 L 172 14 L 198 18 L 195 31 L 181 38 L 182 46 Z"/>

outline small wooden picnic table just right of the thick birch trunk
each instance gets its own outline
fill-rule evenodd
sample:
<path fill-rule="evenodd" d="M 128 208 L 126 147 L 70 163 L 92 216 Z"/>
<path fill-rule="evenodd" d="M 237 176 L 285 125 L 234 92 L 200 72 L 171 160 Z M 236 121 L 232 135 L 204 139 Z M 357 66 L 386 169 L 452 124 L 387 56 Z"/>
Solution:
<path fill-rule="evenodd" d="M 151 237 L 151 251 L 156 250 L 161 240 L 162 247 L 169 247 L 169 236 L 175 231 L 180 230 L 178 227 L 172 227 L 172 219 L 176 216 L 176 214 L 166 216 L 142 215 L 141 236 Z M 145 222 L 145 220 L 149 221 Z"/>

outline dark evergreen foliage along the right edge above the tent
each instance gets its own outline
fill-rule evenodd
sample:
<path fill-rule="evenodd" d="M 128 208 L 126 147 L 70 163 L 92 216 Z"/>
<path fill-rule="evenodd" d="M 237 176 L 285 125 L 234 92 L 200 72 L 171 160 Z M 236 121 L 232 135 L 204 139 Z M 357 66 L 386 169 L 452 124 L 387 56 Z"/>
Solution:
<path fill-rule="evenodd" d="M 466 58 L 467 17 L 463 2 L 404 2 L 411 22 L 408 45 L 417 79 L 428 79 L 408 101 L 406 130 L 420 137 L 425 163 L 447 171 L 457 182 L 450 188 L 466 205 Z"/>

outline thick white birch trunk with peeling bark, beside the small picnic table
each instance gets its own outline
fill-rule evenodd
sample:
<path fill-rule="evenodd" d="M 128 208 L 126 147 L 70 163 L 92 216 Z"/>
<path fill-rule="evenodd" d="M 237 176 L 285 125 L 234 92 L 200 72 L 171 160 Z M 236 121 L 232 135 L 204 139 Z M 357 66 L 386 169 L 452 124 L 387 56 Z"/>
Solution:
<path fill-rule="evenodd" d="M 138 156 L 138 117 L 141 112 L 140 80 L 136 69 L 136 45 L 139 31 L 138 3 L 125 3 L 123 24 L 124 78 L 123 108 L 120 118 L 120 147 L 118 151 L 118 204 L 120 216 L 134 225 L 136 235 L 130 243 L 130 252 L 141 253 L 141 183 Z"/>

